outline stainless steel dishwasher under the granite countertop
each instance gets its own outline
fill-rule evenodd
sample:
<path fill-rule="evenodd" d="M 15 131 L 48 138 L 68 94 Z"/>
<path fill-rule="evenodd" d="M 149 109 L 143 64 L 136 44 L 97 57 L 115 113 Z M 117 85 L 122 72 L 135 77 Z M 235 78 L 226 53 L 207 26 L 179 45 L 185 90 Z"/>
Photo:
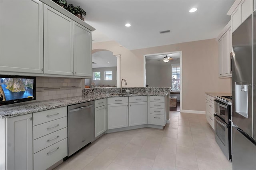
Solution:
<path fill-rule="evenodd" d="M 95 137 L 94 101 L 68 106 L 68 156 Z"/>

